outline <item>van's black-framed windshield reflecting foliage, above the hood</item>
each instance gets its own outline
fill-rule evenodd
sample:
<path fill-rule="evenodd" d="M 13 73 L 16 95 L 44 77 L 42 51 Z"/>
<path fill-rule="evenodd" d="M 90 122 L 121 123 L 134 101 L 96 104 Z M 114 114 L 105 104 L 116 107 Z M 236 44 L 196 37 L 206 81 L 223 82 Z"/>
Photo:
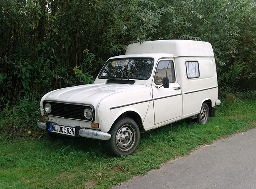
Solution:
<path fill-rule="evenodd" d="M 143 79 L 150 77 L 153 59 L 114 59 L 109 60 L 102 72 L 100 79 Z"/>

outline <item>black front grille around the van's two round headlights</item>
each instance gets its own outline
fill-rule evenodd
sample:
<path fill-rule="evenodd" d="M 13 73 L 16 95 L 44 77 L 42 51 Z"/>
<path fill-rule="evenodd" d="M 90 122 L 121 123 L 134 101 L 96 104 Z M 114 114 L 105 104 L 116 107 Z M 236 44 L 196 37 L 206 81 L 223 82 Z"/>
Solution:
<path fill-rule="evenodd" d="M 45 105 L 46 103 L 49 103 L 52 106 L 52 112 L 48 115 L 79 119 L 79 120 L 88 120 L 84 117 L 84 109 L 87 107 L 92 108 L 91 106 L 86 106 L 86 105 L 65 104 L 60 102 L 49 102 L 49 101 L 44 101 L 43 105 Z M 92 109 L 92 111 L 94 110 Z M 88 121 L 92 121 L 93 118 L 94 116 L 92 116 L 92 118 Z"/>

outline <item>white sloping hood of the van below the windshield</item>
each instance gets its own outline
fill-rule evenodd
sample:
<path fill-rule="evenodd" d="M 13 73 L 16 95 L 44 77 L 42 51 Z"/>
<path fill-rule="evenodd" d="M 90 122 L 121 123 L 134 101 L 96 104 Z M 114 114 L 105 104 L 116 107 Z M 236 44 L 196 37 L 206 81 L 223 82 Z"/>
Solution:
<path fill-rule="evenodd" d="M 74 102 L 82 104 L 98 104 L 106 96 L 122 91 L 133 90 L 146 87 L 145 85 L 127 85 L 127 84 L 105 84 L 94 83 L 88 85 L 79 85 L 51 91 L 43 96 L 42 100 L 54 100 L 60 102 Z M 41 102 L 42 102 L 41 100 Z"/>

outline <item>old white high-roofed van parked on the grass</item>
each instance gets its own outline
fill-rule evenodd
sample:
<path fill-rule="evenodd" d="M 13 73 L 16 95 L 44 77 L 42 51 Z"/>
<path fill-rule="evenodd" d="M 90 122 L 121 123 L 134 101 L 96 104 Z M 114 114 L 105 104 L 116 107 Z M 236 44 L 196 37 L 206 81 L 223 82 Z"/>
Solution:
<path fill-rule="evenodd" d="M 132 154 L 140 132 L 192 117 L 206 124 L 219 105 L 210 43 L 132 43 L 106 61 L 94 84 L 58 89 L 40 102 L 50 136 L 105 140 L 114 156 Z"/>

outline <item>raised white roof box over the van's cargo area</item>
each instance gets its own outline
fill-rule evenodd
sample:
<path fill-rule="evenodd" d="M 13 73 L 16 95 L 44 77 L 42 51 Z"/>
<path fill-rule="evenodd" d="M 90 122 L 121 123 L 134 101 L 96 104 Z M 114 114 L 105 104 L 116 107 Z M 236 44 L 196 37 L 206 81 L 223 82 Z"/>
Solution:
<path fill-rule="evenodd" d="M 174 57 L 214 57 L 212 45 L 204 41 L 191 40 L 158 40 L 132 43 L 125 54 L 168 53 Z"/>

